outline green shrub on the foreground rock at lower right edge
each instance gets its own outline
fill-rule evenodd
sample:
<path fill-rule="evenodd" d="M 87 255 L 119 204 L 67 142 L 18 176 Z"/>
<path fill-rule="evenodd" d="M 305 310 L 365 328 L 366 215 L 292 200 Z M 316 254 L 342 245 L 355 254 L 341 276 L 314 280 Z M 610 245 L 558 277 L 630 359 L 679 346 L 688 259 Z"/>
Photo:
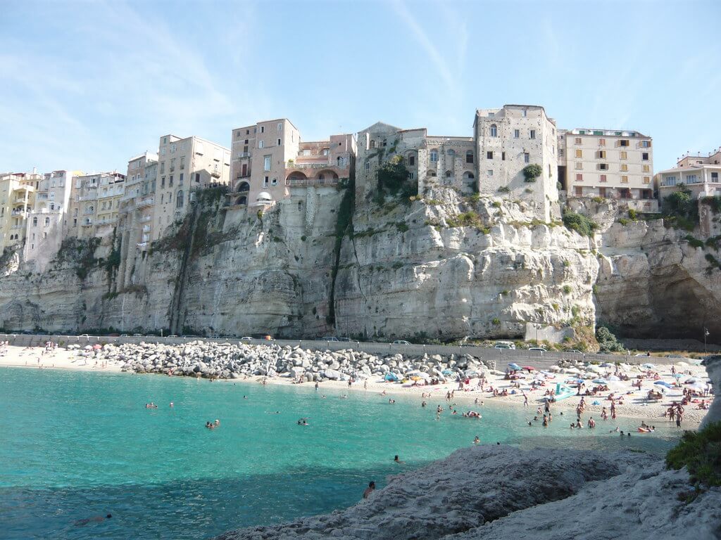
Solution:
<path fill-rule="evenodd" d="M 666 467 L 686 467 L 694 484 L 721 486 L 721 422 L 709 424 L 698 433 L 686 431 L 678 446 L 666 454 Z"/>

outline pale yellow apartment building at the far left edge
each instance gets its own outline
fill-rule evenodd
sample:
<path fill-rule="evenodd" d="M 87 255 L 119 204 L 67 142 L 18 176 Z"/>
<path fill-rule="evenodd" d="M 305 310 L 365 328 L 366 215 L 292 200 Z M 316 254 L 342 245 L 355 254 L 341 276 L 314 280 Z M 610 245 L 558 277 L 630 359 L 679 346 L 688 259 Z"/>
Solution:
<path fill-rule="evenodd" d="M 5 248 L 22 246 L 25 241 L 40 179 L 35 172 L 0 174 L 0 255 Z"/>

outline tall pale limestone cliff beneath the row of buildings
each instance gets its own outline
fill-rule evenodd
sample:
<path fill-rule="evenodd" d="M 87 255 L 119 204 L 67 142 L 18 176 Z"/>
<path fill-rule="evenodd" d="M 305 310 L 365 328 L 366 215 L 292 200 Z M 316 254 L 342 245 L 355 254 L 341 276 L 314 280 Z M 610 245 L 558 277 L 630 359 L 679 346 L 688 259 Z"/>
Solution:
<path fill-rule="evenodd" d="M 412 199 L 354 211 L 352 186 L 302 188 L 259 210 L 211 190 L 147 253 L 118 235 L 66 240 L 42 274 L 9 261 L 0 327 L 448 339 L 538 325 L 583 338 L 602 320 L 698 338 L 721 320 L 715 251 L 660 220 L 607 220 L 592 240 L 523 202 L 443 188 Z"/>

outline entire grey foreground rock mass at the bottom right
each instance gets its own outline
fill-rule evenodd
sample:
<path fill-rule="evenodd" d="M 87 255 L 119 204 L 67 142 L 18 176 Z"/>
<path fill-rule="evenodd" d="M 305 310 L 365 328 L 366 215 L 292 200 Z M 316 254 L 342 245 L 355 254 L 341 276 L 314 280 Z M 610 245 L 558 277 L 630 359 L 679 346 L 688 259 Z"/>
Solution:
<path fill-rule="evenodd" d="M 721 490 L 686 504 L 688 490 L 685 471 L 647 454 L 477 446 L 391 477 L 346 510 L 217 540 L 717 537 Z"/>

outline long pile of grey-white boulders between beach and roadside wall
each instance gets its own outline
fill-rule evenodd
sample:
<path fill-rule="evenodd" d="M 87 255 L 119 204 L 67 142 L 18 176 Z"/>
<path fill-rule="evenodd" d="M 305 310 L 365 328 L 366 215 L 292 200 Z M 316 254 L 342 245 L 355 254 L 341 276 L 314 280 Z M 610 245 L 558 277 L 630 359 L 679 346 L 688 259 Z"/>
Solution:
<path fill-rule="evenodd" d="M 238 379 L 251 375 L 293 377 L 306 382 L 324 380 L 393 377 L 402 379 L 413 372 L 417 377 L 442 381 L 476 377 L 495 368 L 469 354 L 438 354 L 385 357 L 361 351 L 310 351 L 298 346 L 247 345 L 192 341 L 184 345 L 162 343 L 107 344 L 81 351 L 97 361 L 119 362 L 125 371 L 162 373 L 190 377 Z"/>

